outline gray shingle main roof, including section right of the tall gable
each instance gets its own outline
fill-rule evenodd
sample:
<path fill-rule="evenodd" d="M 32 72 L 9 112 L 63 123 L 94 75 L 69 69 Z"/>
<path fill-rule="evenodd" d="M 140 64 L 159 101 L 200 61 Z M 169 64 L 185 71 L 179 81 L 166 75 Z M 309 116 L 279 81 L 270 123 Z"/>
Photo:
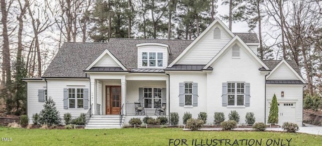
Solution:
<path fill-rule="evenodd" d="M 254 34 L 235 34 L 246 43 L 258 42 L 256 34 L 255 36 Z M 169 64 L 171 64 L 192 42 L 193 40 L 115 38 L 110 39 L 109 43 L 64 43 L 42 77 L 85 78 L 87 76 L 83 70 L 105 49 L 109 50 L 126 68 L 137 68 L 136 44 L 139 43 L 168 44 L 171 50 L 169 56 Z"/>

